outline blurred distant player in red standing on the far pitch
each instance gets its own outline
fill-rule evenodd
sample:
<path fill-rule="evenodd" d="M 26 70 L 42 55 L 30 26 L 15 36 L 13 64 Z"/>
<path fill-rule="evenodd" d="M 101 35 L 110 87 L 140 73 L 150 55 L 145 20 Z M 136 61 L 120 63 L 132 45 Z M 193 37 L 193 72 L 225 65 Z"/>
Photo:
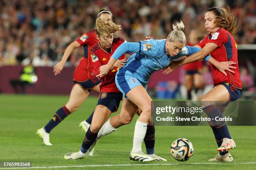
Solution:
<path fill-rule="evenodd" d="M 202 40 L 199 37 L 199 33 L 197 30 L 191 30 L 189 33 L 189 42 L 187 42 L 187 45 L 194 46 L 197 45 L 197 43 Z M 185 86 L 187 88 L 187 99 L 192 100 L 192 89 L 195 90 L 195 95 L 197 94 L 197 91 L 202 88 L 203 79 L 202 79 L 202 60 L 195 61 L 193 63 L 188 63 L 184 65 L 185 70 Z M 193 97 L 193 100 L 196 96 Z"/>

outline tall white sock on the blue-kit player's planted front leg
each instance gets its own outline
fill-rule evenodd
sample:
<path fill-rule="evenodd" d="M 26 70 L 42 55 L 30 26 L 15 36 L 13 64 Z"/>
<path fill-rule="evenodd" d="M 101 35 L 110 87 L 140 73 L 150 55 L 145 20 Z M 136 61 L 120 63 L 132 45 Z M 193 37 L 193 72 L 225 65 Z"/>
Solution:
<path fill-rule="evenodd" d="M 146 135 L 147 125 L 148 123 L 140 122 L 137 120 L 133 136 L 132 153 L 136 153 L 137 151 L 141 150 L 141 144 Z"/>

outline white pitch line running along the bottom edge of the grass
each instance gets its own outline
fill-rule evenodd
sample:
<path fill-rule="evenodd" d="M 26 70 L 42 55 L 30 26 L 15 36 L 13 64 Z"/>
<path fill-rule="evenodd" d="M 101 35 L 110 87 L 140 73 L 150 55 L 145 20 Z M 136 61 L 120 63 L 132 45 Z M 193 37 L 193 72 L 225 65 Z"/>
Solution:
<path fill-rule="evenodd" d="M 215 165 L 221 163 L 150 163 L 150 164 L 106 164 L 106 165 L 71 165 L 71 166 L 51 166 L 51 167 L 13 167 L 13 168 L 0 168 L 0 170 L 8 169 L 47 169 L 47 168 L 85 168 L 85 167 L 110 167 L 110 166 L 151 166 L 151 165 Z M 256 162 L 248 163 L 230 163 L 233 164 L 256 164 Z"/>

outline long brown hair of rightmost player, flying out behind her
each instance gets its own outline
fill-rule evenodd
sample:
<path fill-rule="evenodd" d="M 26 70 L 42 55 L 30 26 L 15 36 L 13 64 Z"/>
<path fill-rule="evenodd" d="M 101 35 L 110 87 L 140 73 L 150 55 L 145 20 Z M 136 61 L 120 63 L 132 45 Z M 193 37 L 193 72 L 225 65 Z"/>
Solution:
<path fill-rule="evenodd" d="M 212 11 L 216 16 L 215 25 L 216 27 L 221 27 L 230 32 L 233 37 L 236 36 L 236 33 L 240 29 L 237 20 L 233 13 L 230 12 L 229 7 L 226 8 L 219 8 L 219 7 L 212 7 L 208 9 L 206 12 Z"/>

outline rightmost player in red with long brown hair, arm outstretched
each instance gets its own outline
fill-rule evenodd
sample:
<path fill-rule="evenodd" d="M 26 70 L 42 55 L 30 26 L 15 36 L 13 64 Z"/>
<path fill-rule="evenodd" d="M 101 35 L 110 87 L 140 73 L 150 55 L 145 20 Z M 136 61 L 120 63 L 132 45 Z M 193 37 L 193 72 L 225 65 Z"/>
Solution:
<path fill-rule="evenodd" d="M 237 100 L 242 93 L 237 47 L 236 41 L 233 38 L 238 32 L 238 24 L 236 23 L 236 18 L 230 12 L 229 7 L 227 9 L 213 7 L 205 13 L 205 28 L 210 33 L 196 45 L 196 47 L 199 47 L 202 50 L 180 62 L 171 63 L 164 73 L 168 74 L 178 66 L 200 60 L 209 53 L 212 58 L 215 58 L 215 60 L 218 60 L 219 62 L 225 61 L 234 63 L 234 66 L 229 66 L 230 69 L 232 69 L 230 72 L 223 72 L 225 76 L 218 70 L 218 65 L 210 65 L 215 87 L 201 99 L 201 105 L 204 106 L 204 111 L 209 117 L 222 117 L 221 111 L 215 107 L 216 104 L 213 103 L 213 101 L 223 101 L 228 103 Z M 215 158 L 212 158 L 209 161 L 231 162 L 233 157 L 228 150 L 236 148 L 236 143 L 229 134 L 228 126 L 224 121 L 219 122 L 218 125 L 218 122 L 212 123 L 212 131 L 218 144 L 217 150 L 219 153 Z"/>

